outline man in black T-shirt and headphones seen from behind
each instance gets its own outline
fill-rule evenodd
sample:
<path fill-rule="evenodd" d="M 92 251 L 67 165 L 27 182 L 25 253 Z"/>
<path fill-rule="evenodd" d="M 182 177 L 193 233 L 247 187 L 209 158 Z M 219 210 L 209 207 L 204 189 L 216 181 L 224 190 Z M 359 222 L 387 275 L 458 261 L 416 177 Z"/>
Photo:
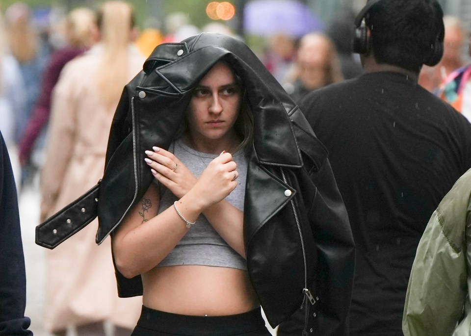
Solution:
<path fill-rule="evenodd" d="M 355 25 L 365 74 L 309 93 L 299 107 L 329 151 L 355 240 L 345 328 L 351 336 L 403 336 L 416 249 L 433 211 L 471 167 L 471 124 L 418 84 L 422 65 L 443 54 L 436 0 L 370 0 Z M 301 335 L 301 316 L 278 335 Z"/>

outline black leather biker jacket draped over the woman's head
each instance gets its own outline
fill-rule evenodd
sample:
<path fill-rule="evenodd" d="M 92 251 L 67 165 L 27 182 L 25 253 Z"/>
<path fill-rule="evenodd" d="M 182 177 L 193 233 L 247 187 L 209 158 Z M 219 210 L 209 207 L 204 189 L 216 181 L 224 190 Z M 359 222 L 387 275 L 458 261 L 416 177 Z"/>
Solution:
<path fill-rule="evenodd" d="M 82 216 L 76 221 L 83 224 L 98 213 L 97 243 L 112 233 L 153 180 L 144 151 L 169 147 L 192 89 L 221 59 L 240 77 L 254 116 L 244 240 L 249 276 L 267 320 L 274 327 L 304 307 L 305 328 L 314 335 L 347 335 L 354 244 L 327 150 L 258 57 L 232 37 L 202 33 L 154 50 L 121 96 L 103 180 L 53 222 L 41 224 L 37 243 L 53 248 L 66 239 L 64 230 L 51 232 L 71 216 Z M 88 217 L 85 205 L 92 207 Z M 116 274 L 120 296 L 141 295 L 139 276 Z"/>

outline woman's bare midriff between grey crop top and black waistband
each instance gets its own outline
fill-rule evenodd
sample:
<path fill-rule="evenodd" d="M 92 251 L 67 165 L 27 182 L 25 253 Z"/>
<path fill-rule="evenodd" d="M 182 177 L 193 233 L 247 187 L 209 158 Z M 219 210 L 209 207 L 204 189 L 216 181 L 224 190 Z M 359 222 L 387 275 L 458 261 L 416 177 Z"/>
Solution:
<path fill-rule="evenodd" d="M 247 271 L 183 265 L 155 267 L 142 275 L 143 305 L 195 316 L 224 316 L 260 306 Z"/>

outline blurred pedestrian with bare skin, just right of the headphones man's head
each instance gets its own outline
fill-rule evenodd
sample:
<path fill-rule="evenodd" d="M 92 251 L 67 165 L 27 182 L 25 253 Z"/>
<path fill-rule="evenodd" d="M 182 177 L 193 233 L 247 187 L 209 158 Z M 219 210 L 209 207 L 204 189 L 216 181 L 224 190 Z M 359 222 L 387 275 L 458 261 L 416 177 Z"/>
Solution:
<path fill-rule="evenodd" d="M 424 65 L 419 74 L 419 84 L 434 92 L 455 70 L 463 66 L 465 31 L 459 17 L 447 15 L 443 18 L 445 39 L 442 60 L 433 67 Z"/>

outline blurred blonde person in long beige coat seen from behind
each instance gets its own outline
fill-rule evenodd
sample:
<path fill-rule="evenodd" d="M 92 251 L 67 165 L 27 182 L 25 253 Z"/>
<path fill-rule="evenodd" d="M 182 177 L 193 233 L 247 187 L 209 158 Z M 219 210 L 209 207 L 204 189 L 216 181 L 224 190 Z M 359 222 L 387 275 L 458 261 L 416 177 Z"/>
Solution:
<path fill-rule="evenodd" d="M 41 172 L 41 221 L 102 176 L 108 133 L 124 85 L 145 59 L 131 44 L 131 5 L 107 1 L 98 13 L 99 42 L 66 64 L 52 97 L 46 161 Z M 110 240 L 95 243 L 98 222 L 47 251 L 45 328 L 56 336 L 130 335 L 140 297 L 118 298 Z M 106 322 L 106 323 L 105 323 Z M 107 334 L 109 335 L 109 334 Z"/>

